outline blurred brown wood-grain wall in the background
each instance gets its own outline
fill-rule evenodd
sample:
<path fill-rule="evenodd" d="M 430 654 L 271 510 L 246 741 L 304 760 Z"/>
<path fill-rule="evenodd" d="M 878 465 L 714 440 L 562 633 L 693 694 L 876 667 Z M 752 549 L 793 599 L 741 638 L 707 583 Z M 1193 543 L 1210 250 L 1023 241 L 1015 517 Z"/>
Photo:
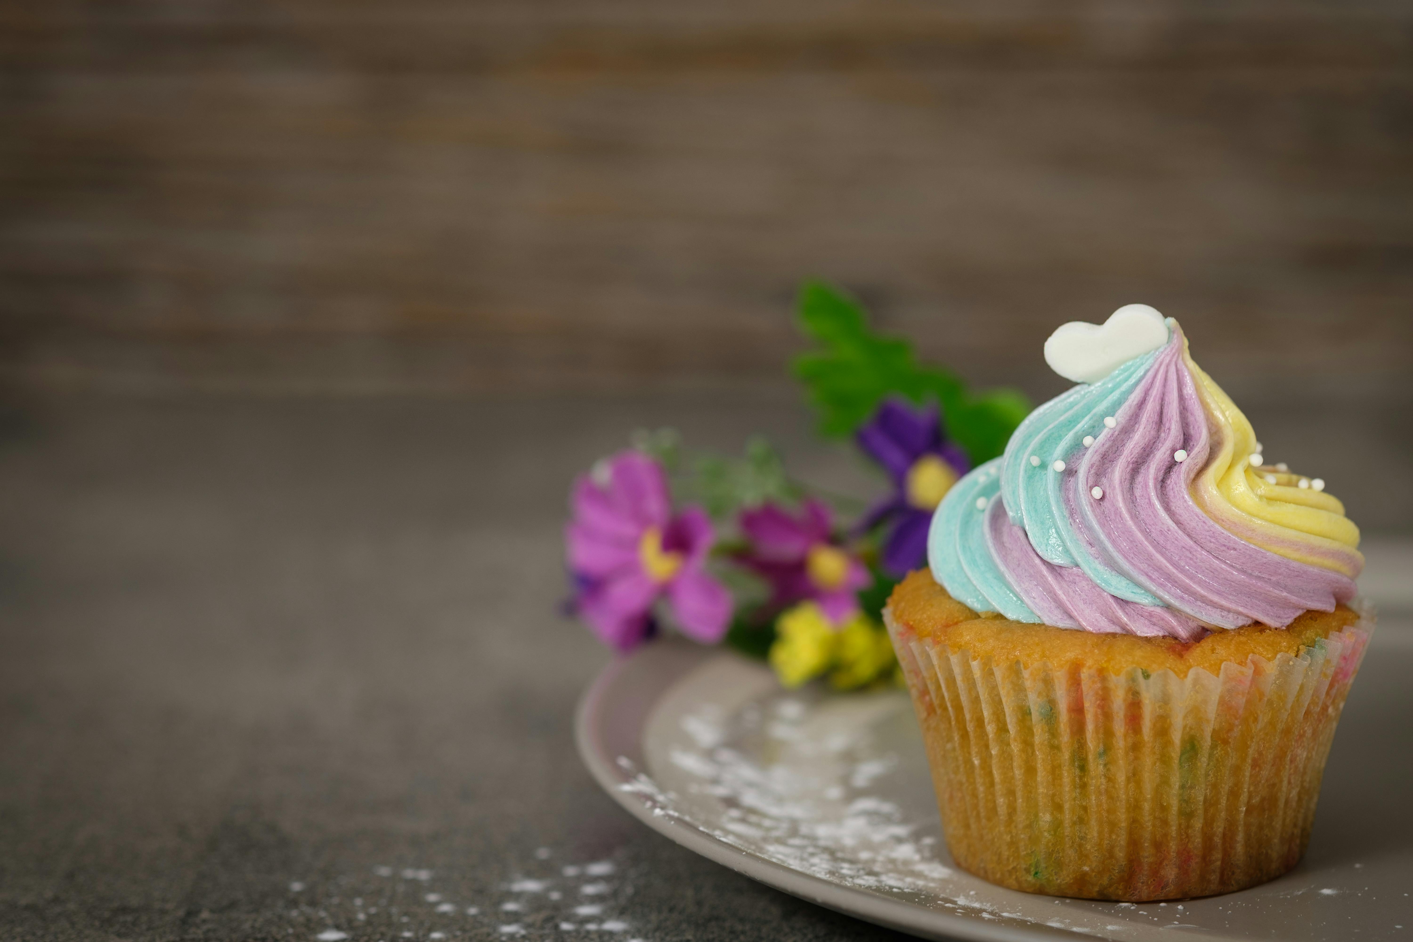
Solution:
<path fill-rule="evenodd" d="M 0 16 L 13 381 L 770 384 L 820 275 L 1036 394 L 1146 301 L 1234 393 L 1413 398 L 1409 3 Z"/>

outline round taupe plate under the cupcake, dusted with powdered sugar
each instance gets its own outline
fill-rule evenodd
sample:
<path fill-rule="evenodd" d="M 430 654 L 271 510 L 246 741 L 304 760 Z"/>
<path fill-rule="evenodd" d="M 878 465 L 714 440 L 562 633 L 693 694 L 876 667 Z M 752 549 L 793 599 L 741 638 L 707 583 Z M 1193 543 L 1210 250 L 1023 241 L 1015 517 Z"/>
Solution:
<path fill-rule="evenodd" d="M 1381 624 L 1325 774 L 1310 852 L 1252 890 L 1115 904 L 958 870 L 901 691 L 784 692 L 759 664 L 664 640 L 579 705 L 584 761 L 656 830 L 749 877 L 931 939 L 1413 939 L 1413 630 Z"/>

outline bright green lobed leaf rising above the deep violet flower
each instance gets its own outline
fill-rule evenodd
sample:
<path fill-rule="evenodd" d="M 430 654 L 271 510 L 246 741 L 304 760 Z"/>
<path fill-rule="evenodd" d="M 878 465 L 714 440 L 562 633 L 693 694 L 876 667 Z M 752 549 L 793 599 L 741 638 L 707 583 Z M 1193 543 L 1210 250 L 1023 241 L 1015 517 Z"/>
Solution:
<path fill-rule="evenodd" d="M 879 403 L 901 395 L 918 405 L 937 403 L 948 436 L 979 465 L 1005 451 L 1030 411 L 1029 400 L 1016 390 L 971 395 L 951 371 L 918 364 L 907 340 L 875 333 L 863 308 L 827 284 L 807 281 L 801 287 L 798 318 L 801 329 L 824 347 L 800 354 L 793 364 L 820 412 L 822 435 L 852 435 Z"/>

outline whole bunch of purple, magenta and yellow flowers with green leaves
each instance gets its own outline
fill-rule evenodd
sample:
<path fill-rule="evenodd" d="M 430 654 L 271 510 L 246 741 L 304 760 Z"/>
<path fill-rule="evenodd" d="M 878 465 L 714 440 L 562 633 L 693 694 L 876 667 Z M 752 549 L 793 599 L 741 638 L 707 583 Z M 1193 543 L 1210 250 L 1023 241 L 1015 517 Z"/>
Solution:
<path fill-rule="evenodd" d="M 567 610 L 608 644 L 627 651 L 673 628 L 767 660 L 786 686 L 897 682 L 887 596 L 924 565 L 942 496 L 1002 453 L 1030 405 L 920 364 L 828 285 L 803 287 L 798 322 L 818 343 L 793 373 L 820 434 L 852 439 L 887 493 L 848 520 L 852 501 L 787 475 L 764 439 L 726 459 L 687 455 L 671 429 L 636 434 L 575 480 L 565 527 Z"/>

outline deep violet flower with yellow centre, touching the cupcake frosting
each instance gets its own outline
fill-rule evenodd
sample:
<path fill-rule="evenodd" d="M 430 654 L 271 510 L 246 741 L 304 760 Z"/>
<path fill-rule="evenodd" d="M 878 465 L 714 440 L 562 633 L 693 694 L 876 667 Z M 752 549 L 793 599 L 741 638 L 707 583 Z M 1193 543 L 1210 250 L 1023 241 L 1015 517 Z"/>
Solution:
<path fill-rule="evenodd" d="M 971 470 L 971 462 L 966 452 L 947 441 L 935 405 L 916 408 L 886 400 L 856 435 L 859 448 L 893 479 L 893 494 L 868 513 L 859 530 L 892 525 L 883 545 L 883 569 L 903 578 L 927 561 L 933 511 L 957 479 Z"/>

